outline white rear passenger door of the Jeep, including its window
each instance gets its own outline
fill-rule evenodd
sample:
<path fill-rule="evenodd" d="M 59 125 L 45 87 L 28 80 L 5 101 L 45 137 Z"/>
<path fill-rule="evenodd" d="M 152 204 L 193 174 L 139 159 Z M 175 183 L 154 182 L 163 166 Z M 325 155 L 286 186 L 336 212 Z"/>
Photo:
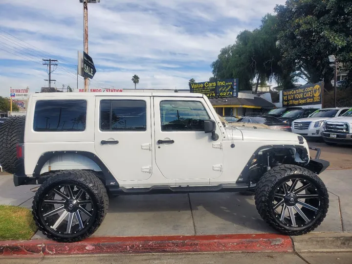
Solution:
<path fill-rule="evenodd" d="M 95 151 L 119 180 L 152 175 L 150 97 L 97 96 Z"/>

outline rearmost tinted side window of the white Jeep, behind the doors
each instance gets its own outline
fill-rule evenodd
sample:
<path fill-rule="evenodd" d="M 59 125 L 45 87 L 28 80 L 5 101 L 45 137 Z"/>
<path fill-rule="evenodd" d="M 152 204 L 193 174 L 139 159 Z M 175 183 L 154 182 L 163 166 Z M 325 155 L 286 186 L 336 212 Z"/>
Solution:
<path fill-rule="evenodd" d="M 37 101 L 33 129 L 37 132 L 85 131 L 86 115 L 86 100 Z"/>

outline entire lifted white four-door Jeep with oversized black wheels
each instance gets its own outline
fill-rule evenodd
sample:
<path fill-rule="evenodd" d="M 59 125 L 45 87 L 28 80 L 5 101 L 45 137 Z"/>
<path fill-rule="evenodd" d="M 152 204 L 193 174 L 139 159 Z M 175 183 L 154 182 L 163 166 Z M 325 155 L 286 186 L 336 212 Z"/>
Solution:
<path fill-rule="evenodd" d="M 270 226 L 307 233 L 329 206 L 319 153 L 295 133 L 224 127 L 195 93 L 37 93 L 0 128 L 0 164 L 41 184 L 34 219 L 62 242 L 99 227 L 108 194 L 252 191 Z"/>

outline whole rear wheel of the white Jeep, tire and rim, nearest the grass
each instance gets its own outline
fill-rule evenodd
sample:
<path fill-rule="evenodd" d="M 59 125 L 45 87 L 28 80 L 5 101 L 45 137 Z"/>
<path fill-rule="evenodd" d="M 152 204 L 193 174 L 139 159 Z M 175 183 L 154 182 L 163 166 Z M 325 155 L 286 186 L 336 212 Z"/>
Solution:
<path fill-rule="evenodd" d="M 63 171 L 47 179 L 33 200 L 33 216 L 48 238 L 80 241 L 105 218 L 109 200 L 101 180 L 88 171 Z"/>

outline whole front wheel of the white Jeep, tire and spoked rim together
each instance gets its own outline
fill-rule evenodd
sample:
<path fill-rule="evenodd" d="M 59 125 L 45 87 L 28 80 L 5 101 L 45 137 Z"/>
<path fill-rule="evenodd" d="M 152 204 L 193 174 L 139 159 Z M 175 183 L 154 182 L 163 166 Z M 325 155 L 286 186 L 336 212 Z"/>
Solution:
<path fill-rule="evenodd" d="M 329 194 L 311 171 L 282 165 L 264 174 L 255 194 L 257 210 L 273 228 L 287 235 L 306 234 L 326 217 Z"/>

